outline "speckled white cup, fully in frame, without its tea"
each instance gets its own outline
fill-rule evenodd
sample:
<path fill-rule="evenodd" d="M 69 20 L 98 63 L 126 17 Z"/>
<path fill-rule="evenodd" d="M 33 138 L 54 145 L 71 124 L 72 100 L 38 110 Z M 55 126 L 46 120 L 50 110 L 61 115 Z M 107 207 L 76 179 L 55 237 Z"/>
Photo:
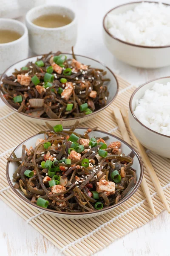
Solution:
<path fill-rule="evenodd" d="M 42 15 L 59 14 L 71 18 L 71 23 L 57 28 L 45 28 L 32 23 Z M 26 14 L 26 26 L 29 33 L 29 46 L 37 54 L 71 51 L 77 40 L 77 17 L 69 8 L 57 5 L 37 6 Z"/>

